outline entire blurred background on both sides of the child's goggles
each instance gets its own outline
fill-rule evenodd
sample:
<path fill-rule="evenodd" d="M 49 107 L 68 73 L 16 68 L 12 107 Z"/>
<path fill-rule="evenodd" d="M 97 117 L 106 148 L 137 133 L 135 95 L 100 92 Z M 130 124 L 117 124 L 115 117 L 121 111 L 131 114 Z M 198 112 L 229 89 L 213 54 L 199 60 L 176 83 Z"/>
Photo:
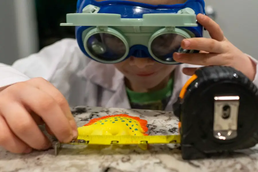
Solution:
<path fill-rule="evenodd" d="M 215 21 L 226 37 L 258 59 L 258 1 L 205 0 L 216 13 Z M 62 38 L 74 38 L 73 27 L 60 27 L 65 14 L 75 12 L 77 0 L 1 0 L 0 62 L 38 52 Z M 205 33 L 206 37 L 209 34 Z"/>

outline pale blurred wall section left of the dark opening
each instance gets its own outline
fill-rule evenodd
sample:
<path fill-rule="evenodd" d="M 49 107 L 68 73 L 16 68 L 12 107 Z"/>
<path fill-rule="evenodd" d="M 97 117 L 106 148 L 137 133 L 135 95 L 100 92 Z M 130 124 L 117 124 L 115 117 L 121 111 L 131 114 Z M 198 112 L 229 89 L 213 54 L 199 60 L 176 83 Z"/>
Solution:
<path fill-rule="evenodd" d="M 12 64 L 38 51 L 34 0 L 0 1 L 0 62 Z"/>

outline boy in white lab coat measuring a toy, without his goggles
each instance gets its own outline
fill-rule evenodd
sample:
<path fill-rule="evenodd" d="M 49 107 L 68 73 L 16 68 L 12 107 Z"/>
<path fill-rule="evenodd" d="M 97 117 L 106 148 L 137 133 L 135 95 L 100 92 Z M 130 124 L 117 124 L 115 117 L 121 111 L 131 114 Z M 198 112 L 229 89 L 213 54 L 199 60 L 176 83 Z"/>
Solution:
<path fill-rule="evenodd" d="M 161 4 L 160 0 L 140 2 Z M 163 0 L 162 4 L 184 2 Z M 174 53 L 181 65 L 135 56 L 103 64 L 87 58 L 73 39 L 56 42 L 12 67 L 1 64 L 0 146 L 13 153 L 49 148 L 50 141 L 37 126 L 43 123 L 59 141 L 70 142 L 77 137 L 77 127 L 69 105 L 172 111 L 181 88 L 200 66 L 231 66 L 258 85 L 257 61 L 232 45 L 209 17 L 199 14 L 197 20 L 211 38 L 184 39 L 182 48 L 201 53 Z"/>

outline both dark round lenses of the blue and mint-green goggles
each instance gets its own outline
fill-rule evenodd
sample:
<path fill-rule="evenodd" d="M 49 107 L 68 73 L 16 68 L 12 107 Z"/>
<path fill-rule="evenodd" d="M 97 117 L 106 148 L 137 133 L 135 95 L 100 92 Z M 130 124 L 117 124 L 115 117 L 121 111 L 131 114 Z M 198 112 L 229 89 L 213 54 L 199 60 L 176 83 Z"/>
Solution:
<path fill-rule="evenodd" d="M 185 37 L 177 33 L 160 34 L 150 42 L 148 53 L 150 57 L 153 56 L 159 62 L 173 64 L 175 62 L 173 59 L 174 52 L 190 52 L 190 50 L 181 48 L 183 39 Z M 86 46 L 91 56 L 100 62 L 120 62 L 128 53 L 126 41 L 111 33 L 95 33 L 89 36 Z"/>

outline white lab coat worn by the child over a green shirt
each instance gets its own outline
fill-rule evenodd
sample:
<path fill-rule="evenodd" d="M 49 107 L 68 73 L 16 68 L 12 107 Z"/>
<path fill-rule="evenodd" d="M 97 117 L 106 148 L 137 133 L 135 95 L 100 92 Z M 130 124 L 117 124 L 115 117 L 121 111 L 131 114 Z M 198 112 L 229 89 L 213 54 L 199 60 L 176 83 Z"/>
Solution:
<path fill-rule="evenodd" d="M 253 60 L 257 64 L 257 60 Z M 175 69 L 173 95 L 166 111 L 172 111 L 173 103 L 189 79 L 181 72 L 184 67 L 194 66 L 181 64 Z M 130 108 L 124 75 L 112 64 L 101 64 L 87 58 L 74 39 L 60 40 L 36 54 L 17 60 L 12 67 L 0 64 L 0 73 L 0 87 L 42 77 L 67 98 L 71 107 Z M 253 82 L 258 86 L 257 74 Z"/>

